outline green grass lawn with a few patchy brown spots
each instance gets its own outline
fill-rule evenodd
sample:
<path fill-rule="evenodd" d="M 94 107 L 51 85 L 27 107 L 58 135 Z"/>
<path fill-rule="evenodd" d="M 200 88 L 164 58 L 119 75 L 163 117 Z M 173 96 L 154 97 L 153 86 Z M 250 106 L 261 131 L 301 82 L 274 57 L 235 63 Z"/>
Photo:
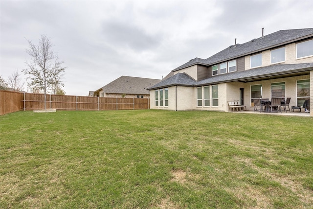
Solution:
<path fill-rule="evenodd" d="M 0 208 L 313 208 L 313 118 L 0 116 Z"/>

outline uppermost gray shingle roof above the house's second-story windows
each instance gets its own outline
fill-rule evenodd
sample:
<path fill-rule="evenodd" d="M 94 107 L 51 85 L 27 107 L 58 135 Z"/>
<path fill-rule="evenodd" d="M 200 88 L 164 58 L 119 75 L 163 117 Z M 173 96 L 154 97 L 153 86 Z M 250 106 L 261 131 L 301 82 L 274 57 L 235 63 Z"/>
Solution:
<path fill-rule="evenodd" d="M 269 48 L 286 45 L 288 43 L 297 41 L 297 39 L 304 39 L 306 36 L 312 36 L 313 28 L 279 30 L 277 32 L 268 34 L 266 36 L 252 39 L 244 44 L 236 44 L 225 48 L 224 50 L 214 54 L 207 59 L 195 58 L 189 62 L 172 70 L 181 70 L 195 64 L 199 65 L 213 65 L 229 59 L 235 59 L 252 53 L 257 53 Z"/>

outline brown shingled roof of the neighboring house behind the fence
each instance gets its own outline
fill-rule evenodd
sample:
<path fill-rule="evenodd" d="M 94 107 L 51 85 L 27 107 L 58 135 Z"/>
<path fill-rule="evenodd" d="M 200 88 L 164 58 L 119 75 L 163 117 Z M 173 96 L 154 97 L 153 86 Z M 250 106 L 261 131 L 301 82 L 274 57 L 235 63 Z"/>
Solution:
<path fill-rule="evenodd" d="M 104 93 L 149 94 L 147 89 L 160 81 L 160 79 L 121 76 L 95 92 L 103 90 Z"/>

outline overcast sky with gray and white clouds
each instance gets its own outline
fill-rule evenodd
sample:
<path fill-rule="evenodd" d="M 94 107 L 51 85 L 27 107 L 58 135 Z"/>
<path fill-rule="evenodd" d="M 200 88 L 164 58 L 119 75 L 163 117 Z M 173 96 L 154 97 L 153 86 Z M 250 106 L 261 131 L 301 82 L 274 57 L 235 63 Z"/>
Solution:
<path fill-rule="evenodd" d="M 122 75 L 162 79 L 263 27 L 312 28 L 313 0 L 0 0 L 0 75 L 26 80 L 27 40 L 46 35 L 66 67 L 64 91 L 86 96 Z"/>

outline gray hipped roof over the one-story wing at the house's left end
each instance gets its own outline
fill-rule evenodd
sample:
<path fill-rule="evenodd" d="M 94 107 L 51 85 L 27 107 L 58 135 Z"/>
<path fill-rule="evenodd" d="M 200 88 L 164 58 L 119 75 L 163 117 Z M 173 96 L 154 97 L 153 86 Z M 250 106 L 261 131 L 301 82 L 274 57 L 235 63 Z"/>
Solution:
<path fill-rule="evenodd" d="M 156 85 L 152 86 L 150 89 L 157 89 L 161 87 L 167 87 L 167 86 L 193 86 L 195 85 L 196 80 L 190 77 L 186 73 L 177 73 L 173 76 L 171 76 L 168 79 L 162 80 L 161 82 L 157 83 Z"/>

